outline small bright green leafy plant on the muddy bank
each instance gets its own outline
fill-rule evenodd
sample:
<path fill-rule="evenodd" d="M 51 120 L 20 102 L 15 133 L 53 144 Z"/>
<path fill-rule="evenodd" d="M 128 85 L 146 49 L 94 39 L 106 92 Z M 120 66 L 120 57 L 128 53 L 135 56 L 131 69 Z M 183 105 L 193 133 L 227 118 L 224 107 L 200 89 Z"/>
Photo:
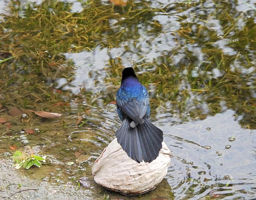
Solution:
<path fill-rule="evenodd" d="M 26 147 L 27 152 L 23 153 L 20 151 L 16 151 L 12 156 L 12 161 L 16 162 L 13 166 L 16 169 L 20 169 L 23 166 L 25 169 L 29 169 L 31 166 L 36 165 L 37 167 L 41 167 L 40 161 L 45 163 L 46 156 L 39 156 L 41 153 L 35 153 L 34 148 Z"/>

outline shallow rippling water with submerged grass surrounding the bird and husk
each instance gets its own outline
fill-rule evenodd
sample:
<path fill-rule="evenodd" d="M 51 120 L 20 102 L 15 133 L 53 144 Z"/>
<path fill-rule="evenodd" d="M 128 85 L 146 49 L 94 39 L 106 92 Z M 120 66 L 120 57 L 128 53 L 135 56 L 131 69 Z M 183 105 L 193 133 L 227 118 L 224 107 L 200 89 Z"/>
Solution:
<path fill-rule="evenodd" d="M 256 198 L 254 1 L 0 5 L 0 114 L 11 123 L 0 126 L 0 158 L 2 172 L 14 176 L 1 176 L 0 195 L 37 180 L 38 192 L 15 198 Z M 120 125 L 109 103 L 127 65 L 148 89 L 150 120 L 172 151 L 161 185 L 133 197 L 99 187 L 91 172 Z M 27 115 L 10 115 L 12 107 Z M 43 119 L 31 110 L 62 116 Z M 46 165 L 13 170 L 13 144 L 17 150 L 38 146 L 48 156 Z M 81 177 L 89 178 L 88 189 L 78 187 Z"/>

